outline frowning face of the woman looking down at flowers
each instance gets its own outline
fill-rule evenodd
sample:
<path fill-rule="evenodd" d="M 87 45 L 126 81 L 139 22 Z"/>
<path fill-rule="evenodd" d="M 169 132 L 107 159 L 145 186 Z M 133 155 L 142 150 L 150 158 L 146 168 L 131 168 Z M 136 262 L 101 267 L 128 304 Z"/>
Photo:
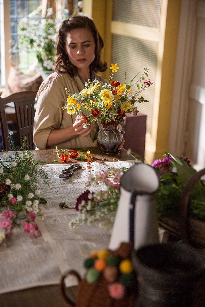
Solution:
<path fill-rule="evenodd" d="M 68 32 L 66 53 L 70 62 L 78 68 L 78 72 L 90 68 L 95 59 L 95 40 L 88 29 L 79 28 Z"/>

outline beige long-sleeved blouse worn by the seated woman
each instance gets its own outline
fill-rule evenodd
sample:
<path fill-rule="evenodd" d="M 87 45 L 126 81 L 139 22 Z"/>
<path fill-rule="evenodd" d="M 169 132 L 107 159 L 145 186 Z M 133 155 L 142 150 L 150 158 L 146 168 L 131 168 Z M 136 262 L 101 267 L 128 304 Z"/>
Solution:
<path fill-rule="evenodd" d="M 98 74 L 94 74 L 94 78 L 104 83 L 108 82 Z M 71 94 L 79 93 L 84 88 L 84 83 L 79 76 L 71 78 L 68 74 L 54 73 L 53 78 L 50 81 L 47 78 L 39 88 L 33 125 L 33 141 L 36 145 L 36 150 L 55 149 L 56 146 L 64 149 L 97 146 L 97 140 L 95 139 L 96 122 L 93 122 L 92 132 L 87 137 L 78 135 L 62 143 L 46 147 L 51 130 L 67 128 L 75 122 L 76 114 L 67 114 L 66 110 L 62 109 L 67 99 L 65 88 L 69 89 Z"/>

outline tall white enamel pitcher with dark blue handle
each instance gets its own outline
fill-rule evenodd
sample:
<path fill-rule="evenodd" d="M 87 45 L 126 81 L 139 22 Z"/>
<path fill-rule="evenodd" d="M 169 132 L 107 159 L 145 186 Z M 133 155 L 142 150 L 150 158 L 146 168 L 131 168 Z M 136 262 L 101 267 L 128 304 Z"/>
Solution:
<path fill-rule="evenodd" d="M 121 178 L 120 199 L 109 249 L 121 242 L 132 242 L 134 248 L 159 243 L 155 192 L 159 178 L 152 166 L 136 163 Z"/>

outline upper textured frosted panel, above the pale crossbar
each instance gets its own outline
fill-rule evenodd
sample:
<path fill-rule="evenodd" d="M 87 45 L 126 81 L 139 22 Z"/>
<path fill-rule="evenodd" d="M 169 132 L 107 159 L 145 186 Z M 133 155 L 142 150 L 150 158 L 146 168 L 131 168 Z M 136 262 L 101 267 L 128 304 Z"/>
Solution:
<path fill-rule="evenodd" d="M 159 28 L 161 0 L 113 0 L 113 20 Z"/>

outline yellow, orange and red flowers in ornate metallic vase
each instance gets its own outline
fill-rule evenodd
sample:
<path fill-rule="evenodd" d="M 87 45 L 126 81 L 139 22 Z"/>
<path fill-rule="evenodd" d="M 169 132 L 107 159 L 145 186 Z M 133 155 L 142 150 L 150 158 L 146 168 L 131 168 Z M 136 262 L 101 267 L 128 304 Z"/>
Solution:
<path fill-rule="evenodd" d="M 103 84 L 99 80 L 93 82 L 85 82 L 85 88 L 79 94 L 72 94 L 70 90 L 66 89 L 68 95 L 66 104 L 63 109 L 68 114 L 81 114 L 84 117 L 85 125 L 87 127 L 96 121 L 100 127 L 97 140 L 104 153 L 118 153 L 118 146 L 122 141 L 122 131 L 118 124 L 124 121 L 127 113 L 137 115 L 137 103 L 147 102 L 140 93 L 147 87 L 152 85 L 148 77 L 148 68 L 144 68 L 143 73 L 138 80 L 132 84 L 137 75 L 128 83 L 122 84 L 119 81 L 113 81 L 113 74 L 117 72 L 119 67 L 117 63 L 112 64 L 112 74 L 110 76 L 110 83 Z M 141 85 L 140 85 L 141 83 Z M 137 90 L 132 93 L 132 87 L 137 85 Z"/>

